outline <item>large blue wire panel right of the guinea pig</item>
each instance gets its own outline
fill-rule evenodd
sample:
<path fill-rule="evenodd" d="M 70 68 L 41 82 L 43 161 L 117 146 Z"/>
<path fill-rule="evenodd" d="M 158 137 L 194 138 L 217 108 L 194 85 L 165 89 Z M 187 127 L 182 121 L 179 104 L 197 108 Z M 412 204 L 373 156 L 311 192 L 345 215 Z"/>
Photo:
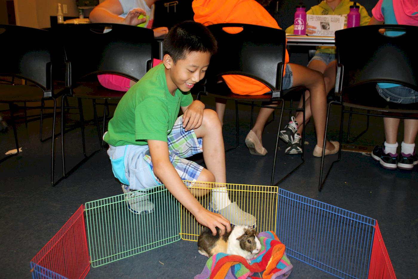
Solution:
<path fill-rule="evenodd" d="M 288 256 L 339 278 L 367 278 L 375 220 L 279 189 L 277 235 Z"/>

